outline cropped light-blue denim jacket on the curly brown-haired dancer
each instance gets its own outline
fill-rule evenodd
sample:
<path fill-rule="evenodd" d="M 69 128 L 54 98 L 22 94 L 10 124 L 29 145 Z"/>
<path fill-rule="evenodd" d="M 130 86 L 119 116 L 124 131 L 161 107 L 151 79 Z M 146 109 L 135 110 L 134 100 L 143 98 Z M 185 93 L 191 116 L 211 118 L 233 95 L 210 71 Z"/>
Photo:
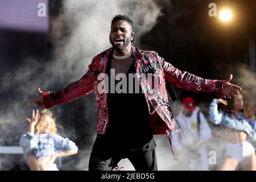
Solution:
<path fill-rule="evenodd" d="M 244 131 L 248 134 L 249 139 L 256 140 L 255 119 L 244 118 L 243 113 L 237 113 L 236 117 L 232 117 L 223 111 L 218 111 L 216 99 L 210 103 L 209 120 L 215 125 L 224 125 L 230 129 Z"/>

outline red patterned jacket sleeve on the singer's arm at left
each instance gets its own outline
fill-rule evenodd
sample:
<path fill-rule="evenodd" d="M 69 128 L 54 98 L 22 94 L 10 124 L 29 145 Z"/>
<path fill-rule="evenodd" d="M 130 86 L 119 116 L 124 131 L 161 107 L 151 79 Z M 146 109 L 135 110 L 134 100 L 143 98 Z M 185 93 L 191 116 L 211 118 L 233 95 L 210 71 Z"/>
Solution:
<path fill-rule="evenodd" d="M 81 96 L 84 96 L 85 94 L 92 92 L 93 83 L 92 78 L 90 77 L 90 68 L 92 68 L 92 64 L 93 62 L 89 65 L 87 73 L 82 76 L 79 81 L 73 82 L 63 90 L 44 92 L 44 106 L 49 109 L 58 104 L 65 104 L 67 102 L 71 102 Z"/>

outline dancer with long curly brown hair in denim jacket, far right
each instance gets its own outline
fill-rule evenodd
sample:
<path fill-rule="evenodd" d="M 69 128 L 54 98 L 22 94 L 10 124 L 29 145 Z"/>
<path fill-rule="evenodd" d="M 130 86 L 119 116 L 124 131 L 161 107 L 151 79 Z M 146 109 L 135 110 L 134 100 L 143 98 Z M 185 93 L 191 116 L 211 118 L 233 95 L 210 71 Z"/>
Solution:
<path fill-rule="evenodd" d="M 224 109 L 218 111 L 218 104 L 225 105 Z M 248 142 L 256 140 L 254 106 L 249 92 L 242 90 L 229 101 L 213 99 L 209 114 L 211 122 L 224 126 L 222 137 L 227 142 L 225 159 L 218 168 L 235 170 L 241 163 L 243 170 L 256 170 L 255 148 Z"/>

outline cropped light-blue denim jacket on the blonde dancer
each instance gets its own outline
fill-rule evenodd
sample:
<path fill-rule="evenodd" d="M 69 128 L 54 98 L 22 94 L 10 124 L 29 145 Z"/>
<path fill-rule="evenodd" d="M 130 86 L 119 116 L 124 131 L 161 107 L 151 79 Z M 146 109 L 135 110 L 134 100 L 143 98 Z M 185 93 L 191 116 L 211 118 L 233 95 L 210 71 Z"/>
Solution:
<path fill-rule="evenodd" d="M 19 142 L 23 148 L 24 158 L 27 162 L 27 155 L 35 152 L 36 158 L 51 156 L 61 151 L 78 150 L 76 144 L 68 138 L 56 134 L 22 135 Z"/>

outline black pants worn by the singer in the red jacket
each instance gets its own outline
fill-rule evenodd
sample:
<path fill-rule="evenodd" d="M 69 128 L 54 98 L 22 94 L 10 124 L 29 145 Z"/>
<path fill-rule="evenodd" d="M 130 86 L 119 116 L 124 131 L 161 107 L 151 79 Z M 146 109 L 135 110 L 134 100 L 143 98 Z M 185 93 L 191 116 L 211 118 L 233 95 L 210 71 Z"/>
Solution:
<path fill-rule="evenodd" d="M 89 171 L 111 171 L 121 159 L 129 159 L 136 171 L 157 171 L 155 141 L 152 139 L 141 148 L 120 150 L 108 146 L 108 142 L 97 135 L 89 160 Z"/>

